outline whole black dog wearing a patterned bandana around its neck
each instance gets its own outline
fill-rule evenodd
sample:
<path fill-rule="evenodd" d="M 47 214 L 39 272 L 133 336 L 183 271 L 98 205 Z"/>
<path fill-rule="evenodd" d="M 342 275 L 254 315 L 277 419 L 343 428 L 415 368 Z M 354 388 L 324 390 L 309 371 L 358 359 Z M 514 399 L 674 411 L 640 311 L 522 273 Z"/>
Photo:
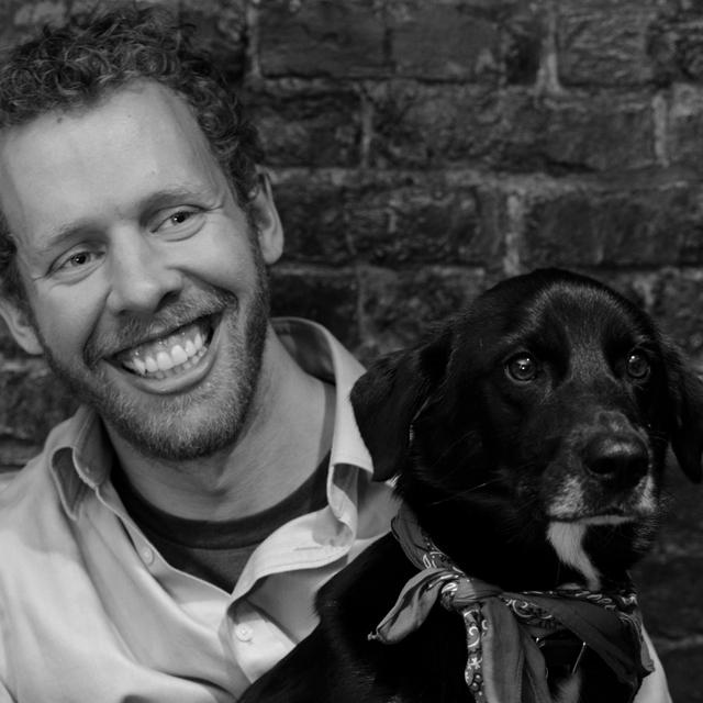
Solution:
<path fill-rule="evenodd" d="M 244 701 L 632 701 L 649 660 L 627 570 L 667 447 L 696 482 L 703 450 L 702 384 L 649 317 L 536 271 L 352 400 L 376 478 L 398 479 L 394 536 L 321 590 L 320 626 Z"/>

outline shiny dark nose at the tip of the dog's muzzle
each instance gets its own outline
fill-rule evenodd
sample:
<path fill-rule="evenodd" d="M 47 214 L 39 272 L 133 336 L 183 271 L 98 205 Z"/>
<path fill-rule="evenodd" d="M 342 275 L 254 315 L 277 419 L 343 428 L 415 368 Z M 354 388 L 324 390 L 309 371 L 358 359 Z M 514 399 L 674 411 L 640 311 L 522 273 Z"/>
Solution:
<path fill-rule="evenodd" d="M 585 447 L 584 459 L 591 473 L 623 487 L 635 486 L 649 467 L 647 446 L 636 435 L 593 437 Z"/>

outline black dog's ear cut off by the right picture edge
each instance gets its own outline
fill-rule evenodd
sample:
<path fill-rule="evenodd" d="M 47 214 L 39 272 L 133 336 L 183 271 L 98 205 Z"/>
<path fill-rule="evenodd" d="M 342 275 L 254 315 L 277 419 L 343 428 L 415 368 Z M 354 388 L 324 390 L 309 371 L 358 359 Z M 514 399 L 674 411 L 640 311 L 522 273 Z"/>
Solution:
<path fill-rule="evenodd" d="M 703 476 L 703 381 L 685 365 L 672 345 L 668 345 L 665 354 L 673 405 L 671 449 L 683 472 L 694 483 L 700 483 Z"/>

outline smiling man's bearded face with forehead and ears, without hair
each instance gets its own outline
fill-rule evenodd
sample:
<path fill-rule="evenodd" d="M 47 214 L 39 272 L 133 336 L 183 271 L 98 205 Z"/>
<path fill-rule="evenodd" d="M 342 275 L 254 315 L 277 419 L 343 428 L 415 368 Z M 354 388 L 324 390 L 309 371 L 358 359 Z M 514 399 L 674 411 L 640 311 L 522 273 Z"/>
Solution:
<path fill-rule="evenodd" d="M 144 82 L 9 131 L 0 204 L 32 312 L 3 303 L 18 342 L 146 455 L 231 446 L 282 235 L 267 190 L 253 232 L 186 103 Z"/>

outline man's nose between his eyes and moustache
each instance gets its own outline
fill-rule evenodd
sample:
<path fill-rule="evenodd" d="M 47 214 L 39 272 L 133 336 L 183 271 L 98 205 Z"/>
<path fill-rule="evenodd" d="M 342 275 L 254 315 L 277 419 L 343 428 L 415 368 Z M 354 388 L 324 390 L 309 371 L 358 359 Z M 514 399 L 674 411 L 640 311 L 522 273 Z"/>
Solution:
<path fill-rule="evenodd" d="M 136 231 L 115 237 L 109 276 L 107 306 L 115 315 L 152 313 L 182 288 L 181 272 L 169 261 L 159 243 L 152 242 L 148 233 Z"/>

